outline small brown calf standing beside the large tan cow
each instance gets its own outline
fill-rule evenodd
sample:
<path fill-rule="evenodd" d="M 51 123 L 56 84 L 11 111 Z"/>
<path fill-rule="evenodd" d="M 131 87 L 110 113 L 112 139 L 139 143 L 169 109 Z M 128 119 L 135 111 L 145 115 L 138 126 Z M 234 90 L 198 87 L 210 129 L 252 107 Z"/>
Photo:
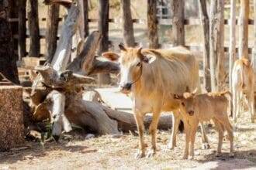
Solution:
<path fill-rule="evenodd" d="M 230 139 L 230 156 L 234 156 L 233 127 L 228 119 L 227 109 L 230 108 L 230 92 L 184 93 L 182 96 L 175 95 L 180 100 L 181 113 L 185 126 L 185 152 L 183 158 L 194 158 L 195 133 L 199 122 L 213 120 L 219 133 L 219 142 L 216 156 L 221 153 L 223 144 L 223 132 L 227 130 Z M 230 99 L 230 100 L 229 100 Z M 189 151 L 189 142 L 190 151 Z M 190 152 L 190 153 L 189 153 Z"/>

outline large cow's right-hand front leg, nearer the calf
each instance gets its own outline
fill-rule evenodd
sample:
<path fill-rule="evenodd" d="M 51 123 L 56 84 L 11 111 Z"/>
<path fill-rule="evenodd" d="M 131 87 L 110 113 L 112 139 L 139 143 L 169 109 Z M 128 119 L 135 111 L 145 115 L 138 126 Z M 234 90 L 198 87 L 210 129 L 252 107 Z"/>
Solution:
<path fill-rule="evenodd" d="M 154 112 L 153 113 L 153 117 L 152 117 L 152 121 L 150 123 L 150 128 L 149 128 L 149 132 L 151 134 L 151 149 L 147 154 L 147 158 L 150 158 L 151 156 L 155 155 L 156 151 L 157 151 L 157 124 L 159 121 L 159 117 L 160 117 L 160 111 Z"/>

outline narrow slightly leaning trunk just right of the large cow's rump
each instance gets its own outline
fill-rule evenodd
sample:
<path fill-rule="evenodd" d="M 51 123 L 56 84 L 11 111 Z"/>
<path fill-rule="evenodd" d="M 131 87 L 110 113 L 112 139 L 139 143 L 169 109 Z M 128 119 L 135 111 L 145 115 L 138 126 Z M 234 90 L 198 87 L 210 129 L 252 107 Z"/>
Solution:
<path fill-rule="evenodd" d="M 209 73 L 209 16 L 207 13 L 206 0 L 199 0 L 201 8 L 201 20 L 204 35 L 204 46 L 203 46 L 203 85 L 208 92 L 211 91 L 211 77 Z"/>

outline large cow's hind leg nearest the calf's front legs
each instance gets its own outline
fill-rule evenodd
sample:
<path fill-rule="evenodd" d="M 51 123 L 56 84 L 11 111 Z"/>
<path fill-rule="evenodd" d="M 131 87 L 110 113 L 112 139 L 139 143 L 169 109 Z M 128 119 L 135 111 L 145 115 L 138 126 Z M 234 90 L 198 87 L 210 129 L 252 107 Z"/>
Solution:
<path fill-rule="evenodd" d="M 173 111 L 172 114 L 172 128 L 171 128 L 171 139 L 168 144 L 168 148 L 174 149 L 176 146 L 176 137 L 178 133 L 178 125 L 181 121 L 180 113 L 178 111 Z"/>

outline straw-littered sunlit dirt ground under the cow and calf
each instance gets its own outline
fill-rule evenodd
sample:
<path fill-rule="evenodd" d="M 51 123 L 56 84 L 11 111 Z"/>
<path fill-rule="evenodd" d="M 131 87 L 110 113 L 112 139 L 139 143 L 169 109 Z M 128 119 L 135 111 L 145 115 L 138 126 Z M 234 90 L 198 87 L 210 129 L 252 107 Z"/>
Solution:
<path fill-rule="evenodd" d="M 43 147 L 40 142 L 27 141 L 26 149 L 0 152 L 0 169 L 256 169 L 256 124 L 249 123 L 247 115 L 240 117 L 234 132 L 234 158 L 228 156 L 226 138 L 223 155 L 216 158 L 217 134 L 211 126 L 207 133 L 211 148 L 201 149 L 201 134 L 197 133 L 193 161 L 182 160 L 185 135 L 181 133 L 178 134 L 178 147 L 167 150 L 171 131 L 158 131 L 157 155 L 137 159 L 134 155 L 138 137 L 133 134 L 85 139 L 86 134 L 73 131 L 64 134 L 59 144 L 47 141 Z M 149 148 L 149 134 L 146 134 L 146 143 Z"/>

